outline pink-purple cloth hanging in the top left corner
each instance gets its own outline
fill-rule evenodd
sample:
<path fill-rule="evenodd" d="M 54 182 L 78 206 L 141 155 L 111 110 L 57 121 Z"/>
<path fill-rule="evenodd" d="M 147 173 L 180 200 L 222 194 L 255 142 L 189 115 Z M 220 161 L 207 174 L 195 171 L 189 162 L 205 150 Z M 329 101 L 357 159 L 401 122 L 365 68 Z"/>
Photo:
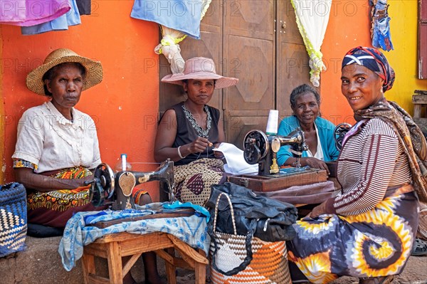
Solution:
<path fill-rule="evenodd" d="M 68 0 L 8 0 L 0 1 L 0 23 L 14 26 L 34 26 L 57 19 L 70 11 Z"/>

